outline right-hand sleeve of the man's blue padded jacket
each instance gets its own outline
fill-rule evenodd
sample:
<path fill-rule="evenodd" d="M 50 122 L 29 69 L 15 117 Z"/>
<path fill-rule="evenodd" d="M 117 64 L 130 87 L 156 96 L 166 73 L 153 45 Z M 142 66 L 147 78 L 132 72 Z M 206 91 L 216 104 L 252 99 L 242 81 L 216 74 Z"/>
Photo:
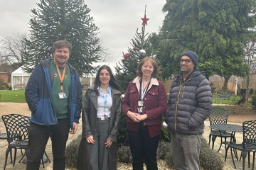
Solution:
<path fill-rule="evenodd" d="M 75 117 L 74 117 L 74 122 L 78 123 L 81 115 L 81 109 L 82 109 L 82 86 L 79 78 L 78 72 L 75 72 L 75 81 L 76 81 L 76 108 L 75 108 Z"/>

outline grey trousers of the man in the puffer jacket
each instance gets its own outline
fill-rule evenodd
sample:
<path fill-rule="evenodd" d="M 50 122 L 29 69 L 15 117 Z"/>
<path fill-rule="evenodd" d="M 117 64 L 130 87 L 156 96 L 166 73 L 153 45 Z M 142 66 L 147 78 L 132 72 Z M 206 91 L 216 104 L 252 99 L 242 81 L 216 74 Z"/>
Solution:
<path fill-rule="evenodd" d="M 202 135 L 171 133 L 171 147 L 174 154 L 174 168 L 178 170 L 199 170 L 199 155 Z"/>

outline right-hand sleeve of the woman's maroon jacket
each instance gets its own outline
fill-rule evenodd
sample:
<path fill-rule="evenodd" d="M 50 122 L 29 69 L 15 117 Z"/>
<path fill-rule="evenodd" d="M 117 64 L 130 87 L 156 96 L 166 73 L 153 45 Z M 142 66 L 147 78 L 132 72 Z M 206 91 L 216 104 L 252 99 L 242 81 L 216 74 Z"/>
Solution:
<path fill-rule="evenodd" d="M 146 111 L 146 115 L 148 119 L 154 119 L 161 116 L 163 113 L 166 113 L 167 108 L 167 99 L 166 99 L 166 91 L 164 88 L 164 84 L 159 82 L 159 100 L 158 106 L 150 111 Z"/>

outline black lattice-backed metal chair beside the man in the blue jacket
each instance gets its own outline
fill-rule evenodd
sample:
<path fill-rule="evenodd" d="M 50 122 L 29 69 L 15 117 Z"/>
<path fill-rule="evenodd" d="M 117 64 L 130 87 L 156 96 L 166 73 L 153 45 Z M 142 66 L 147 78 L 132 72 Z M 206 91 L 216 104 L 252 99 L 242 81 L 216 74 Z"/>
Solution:
<path fill-rule="evenodd" d="M 28 123 L 30 117 L 18 114 L 2 115 L 4 126 L 6 128 L 8 147 L 6 149 L 6 159 L 4 162 L 4 169 L 6 169 L 7 158 L 11 149 L 14 149 L 14 164 L 16 162 L 17 149 L 25 149 L 28 151 Z M 15 136 L 13 134 L 16 134 Z M 21 159 L 25 157 L 23 154 Z M 43 158 L 42 158 L 43 159 Z M 43 161 L 42 161 L 43 162 Z M 44 164 L 43 164 L 44 167 Z"/>

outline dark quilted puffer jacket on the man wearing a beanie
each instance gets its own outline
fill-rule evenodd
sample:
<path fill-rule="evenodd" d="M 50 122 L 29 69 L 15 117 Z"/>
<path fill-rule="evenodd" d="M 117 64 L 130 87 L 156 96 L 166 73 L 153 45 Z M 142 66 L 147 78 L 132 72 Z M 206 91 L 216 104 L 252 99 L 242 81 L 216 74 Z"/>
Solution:
<path fill-rule="evenodd" d="M 195 69 L 182 82 L 182 73 L 178 74 L 171 85 L 165 115 L 168 129 L 186 135 L 202 134 L 211 110 L 212 94 L 206 77 Z"/>

